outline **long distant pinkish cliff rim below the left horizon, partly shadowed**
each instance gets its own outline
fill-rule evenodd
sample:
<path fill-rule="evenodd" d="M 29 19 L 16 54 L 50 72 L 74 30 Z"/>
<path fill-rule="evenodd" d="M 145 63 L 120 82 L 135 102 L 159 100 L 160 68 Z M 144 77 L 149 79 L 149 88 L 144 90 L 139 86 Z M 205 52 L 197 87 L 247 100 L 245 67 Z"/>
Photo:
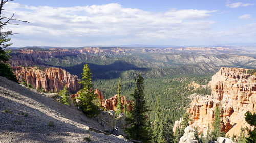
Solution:
<path fill-rule="evenodd" d="M 63 56 L 76 56 L 78 54 L 93 54 L 93 55 L 118 55 L 129 52 L 129 49 L 123 48 L 110 48 L 100 49 L 99 47 L 84 47 L 81 49 L 62 49 L 62 48 L 50 48 L 50 49 L 17 49 L 15 53 L 11 54 L 10 65 L 12 67 L 23 66 L 35 66 L 41 65 L 42 58 L 58 58 Z"/>

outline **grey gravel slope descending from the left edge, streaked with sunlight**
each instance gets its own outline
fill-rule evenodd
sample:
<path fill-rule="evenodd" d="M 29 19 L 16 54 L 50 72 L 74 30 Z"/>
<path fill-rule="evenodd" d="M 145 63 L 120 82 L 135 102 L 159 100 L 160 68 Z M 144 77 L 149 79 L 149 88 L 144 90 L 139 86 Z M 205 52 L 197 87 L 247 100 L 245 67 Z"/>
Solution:
<path fill-rule="evenodd" d="M 48 95 L 0 77 L 0 142 L 126 142 Z"/>

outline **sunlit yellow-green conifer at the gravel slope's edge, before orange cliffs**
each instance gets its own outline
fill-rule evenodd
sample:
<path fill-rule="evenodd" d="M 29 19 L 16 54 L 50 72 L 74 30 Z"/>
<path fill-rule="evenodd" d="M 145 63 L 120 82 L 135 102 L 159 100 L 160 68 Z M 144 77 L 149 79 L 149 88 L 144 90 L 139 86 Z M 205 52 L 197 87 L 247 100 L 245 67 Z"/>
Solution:
<path fill-rule="evenodd" d="M 92 73 L 88 64 L 84 65 L 82 73 L 82 81 L 80 82 L 83 86 L 83 89 L 79 91 L 78 106 L 82 109 L 89 117 L 96 116 L 99 113 L 99 107 L 97 106 L 97 94 L 93 90 L 92 84 Z"/>

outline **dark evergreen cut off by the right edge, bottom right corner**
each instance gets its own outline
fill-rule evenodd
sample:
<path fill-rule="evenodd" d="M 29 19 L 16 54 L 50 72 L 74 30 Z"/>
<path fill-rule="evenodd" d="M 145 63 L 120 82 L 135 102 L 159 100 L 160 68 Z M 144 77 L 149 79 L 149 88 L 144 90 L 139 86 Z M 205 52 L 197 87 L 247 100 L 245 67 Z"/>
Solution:
<path fill-rule="evenodd" d="M 254 129 L 251 131 L 248 130 L 249 137 L 246 137 L 246 142 L 256 142 L 256 113 L 254 112 L 253 114 L 247 111 L 245 113 L 245 121 L 250 124 Z"/>

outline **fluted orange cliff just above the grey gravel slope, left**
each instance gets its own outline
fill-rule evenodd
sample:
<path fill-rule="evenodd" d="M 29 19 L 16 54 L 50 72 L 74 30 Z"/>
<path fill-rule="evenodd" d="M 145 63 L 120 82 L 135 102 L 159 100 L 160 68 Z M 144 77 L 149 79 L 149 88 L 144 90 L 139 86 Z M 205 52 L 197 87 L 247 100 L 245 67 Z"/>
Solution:
<path fill-rule="evenodd" d="M 44 89 L 46 92 L 58 92 L 66 85 L 70 92 L 77 92 L 81 85 L 76 75 L 71 75 L 60 68 L 38 69 L 38 67 L 15 67 L 13 72 L 17 79 L 31 84 L 36 89 Z"/>

